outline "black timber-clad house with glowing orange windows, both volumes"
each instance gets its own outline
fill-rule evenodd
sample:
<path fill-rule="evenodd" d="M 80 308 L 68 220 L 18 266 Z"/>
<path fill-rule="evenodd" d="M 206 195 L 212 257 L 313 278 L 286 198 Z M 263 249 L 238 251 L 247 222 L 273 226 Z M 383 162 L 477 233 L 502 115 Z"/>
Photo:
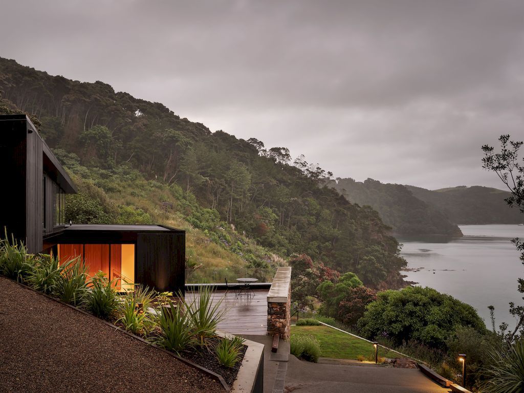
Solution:
<path fill-rule="evenodd" d="M 61 261 L 79 256 L 90 275 L 101 270 L 119 288 L 129 282 L 183 292 L 184 231 L 65 223 L 65 194 L 77 189 L 35 126 L 25 115 L 0 115 L 0 136 L 2 232 L 6 227 L 32 254 L 53 254 Z"/>

